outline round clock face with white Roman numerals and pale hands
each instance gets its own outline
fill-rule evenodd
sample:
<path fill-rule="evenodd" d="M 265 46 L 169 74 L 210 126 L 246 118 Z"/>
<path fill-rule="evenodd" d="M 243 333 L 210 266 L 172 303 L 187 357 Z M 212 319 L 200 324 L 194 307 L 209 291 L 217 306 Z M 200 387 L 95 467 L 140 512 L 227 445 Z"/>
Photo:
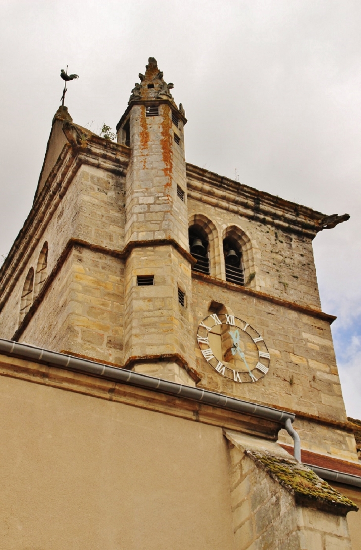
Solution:
<path fill-rule="evenodd" d="M 263 338 L 234 315 L 208 315 L 199 324 L 197 340 L 206 361 L 234 382 L 257 382 L 268 371 L 269 353 Z"/>

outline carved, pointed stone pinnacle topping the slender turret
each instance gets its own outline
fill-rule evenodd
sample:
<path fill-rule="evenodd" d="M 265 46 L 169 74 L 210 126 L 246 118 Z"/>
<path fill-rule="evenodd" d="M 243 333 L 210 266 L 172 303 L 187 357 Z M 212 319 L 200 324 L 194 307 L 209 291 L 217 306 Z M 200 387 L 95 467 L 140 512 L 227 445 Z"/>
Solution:
<path fill-rule="evenodd" d="M 173 102 L 170 90 L 173 84 L 163 80 L 163 73 L 159 70 L 156 59 L 150 57 L 148 65 L 145 65 L 145 75 L 139 73 L 140 84 L 136 83 L 132 90 L 128 103 L 136 100 L 164 100 Z"/>

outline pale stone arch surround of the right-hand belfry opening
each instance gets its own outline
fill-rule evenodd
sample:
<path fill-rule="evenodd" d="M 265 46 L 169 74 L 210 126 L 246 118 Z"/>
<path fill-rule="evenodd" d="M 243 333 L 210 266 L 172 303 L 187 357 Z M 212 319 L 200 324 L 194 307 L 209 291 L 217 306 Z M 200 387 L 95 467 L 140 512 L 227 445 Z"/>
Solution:
<path fill-rule="evenodd" d="M 258 246 L 255 241 L 251 241 L 249 235 L 239 226 L 229 226 L 223 230 L 222 243 L 227 237 L 235 239 L 242 251 L 242 262 L 245 272 L 245 286 L 253 290 L 259 290 L 257 284 L 257 266 L 255 265 L 255 256 L 259 255 Z M 224 271 L 223 250 L 221 255 L 222 268 Z M 252 275 L 254 273 L 254 275 Z M 250 280 L 251 279 L 251 280 Z"/>

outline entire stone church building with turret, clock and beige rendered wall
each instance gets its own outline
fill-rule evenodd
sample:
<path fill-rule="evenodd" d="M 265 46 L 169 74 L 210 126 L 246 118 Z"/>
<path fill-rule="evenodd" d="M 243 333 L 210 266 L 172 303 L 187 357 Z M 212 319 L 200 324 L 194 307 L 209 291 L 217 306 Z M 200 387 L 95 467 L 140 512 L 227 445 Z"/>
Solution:
<path fill-rule="evenodd" d="M 186 163 L 139 77 L 117 143 L 59 108 L 0 271 L 0 547 L 358 550 L 312 252 L 348 216 Z"/>

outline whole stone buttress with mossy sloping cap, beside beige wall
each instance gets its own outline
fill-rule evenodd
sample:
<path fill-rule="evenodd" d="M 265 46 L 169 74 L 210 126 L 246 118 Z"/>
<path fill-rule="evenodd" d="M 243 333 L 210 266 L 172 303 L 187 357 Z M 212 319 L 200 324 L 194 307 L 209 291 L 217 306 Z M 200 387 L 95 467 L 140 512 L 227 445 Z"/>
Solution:
<path fill-rule="evenodd" d="M 224 430 L 236 550 L 351 550 L 351 500 L 275 442 Z"/>

